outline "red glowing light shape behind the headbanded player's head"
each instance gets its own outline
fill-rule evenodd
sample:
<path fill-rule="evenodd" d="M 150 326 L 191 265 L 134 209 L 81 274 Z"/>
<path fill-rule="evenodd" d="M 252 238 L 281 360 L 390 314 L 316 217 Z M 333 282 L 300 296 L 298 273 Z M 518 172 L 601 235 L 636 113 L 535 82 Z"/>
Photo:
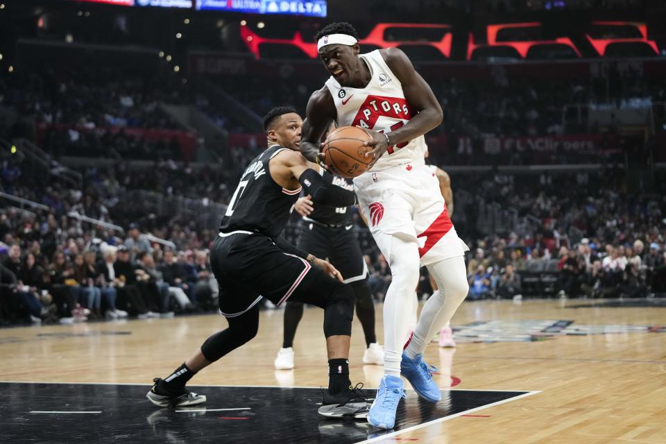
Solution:
<path fill-rule="evenodd" d="M 303 40 L 300 32 L 296 31 L 291 39 L 269 39 L 261 37 L 257 33 L 253 33 L 248 26 L 245 26 L 241 22 L 241 38 L 248 46 L 248 49 L 251 53 L 255 55 L 255 58 L 261 58 L 259 54 L 259 45 L 262 43 L 279 43 L 279 44 L 291 44 L 296 46 L 298 49 L 307 54 L 310 58 L 317 57 L 317 44 L 315 42 L 305 42 Z M 444 29 L 447 32 L 445 33 L 442 40 L 438 42 L 421 42 L 414 40 L 400 40 L 400 41 L 387 41 L 384 39 L 384 32 L 387 28 L 414 28 L 414 29 L 423 29 L 423 28 L 439 28 Z M 372 31 L 364 39 L 359 40 L 360 44 L 371 44 L 374 46 L 379 46 L 380 48 L 391 48 L 395 46 L 406 46 L 406 45 L 418 45 L 418 46 L 433 46 L 438 49 L 445 56 L 450 57 L 451 54 L 451 41 L 452 33 L 451 26 L 448 24 L 424 24 L 424 23 L 379 23 L 375 25 Z"/>

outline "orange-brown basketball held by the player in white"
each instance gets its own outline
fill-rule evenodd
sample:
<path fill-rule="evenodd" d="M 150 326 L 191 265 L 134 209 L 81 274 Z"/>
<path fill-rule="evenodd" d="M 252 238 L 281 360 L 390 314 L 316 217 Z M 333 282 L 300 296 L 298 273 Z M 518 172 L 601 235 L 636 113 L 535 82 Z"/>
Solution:
<path fill-rule="evenodd" d="M 373 138 L 357 126 L 341 126 L 332 131 L 324 145 L 324 163 L 331 172 L 343 178 L 355 178 L 368 170 L 373 157 L 364 157 L 372 150 L 364 146 Z"/>

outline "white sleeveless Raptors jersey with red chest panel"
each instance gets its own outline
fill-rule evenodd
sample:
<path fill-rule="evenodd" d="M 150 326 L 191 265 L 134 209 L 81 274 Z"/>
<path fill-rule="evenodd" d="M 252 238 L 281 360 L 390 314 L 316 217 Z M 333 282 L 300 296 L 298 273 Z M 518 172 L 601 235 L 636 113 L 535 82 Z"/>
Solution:
<path fill-rule="evenodd" d="M 400 80 L 388 68 L 379 50 L 359 57 L 366 62 L 372 75 L 366 87 L 342 87 L 333 76 L 326 80 L 326 87 L 333 96 L 338 112 L 338 125 L 359 126 L 379 133 L 389 133 L 404 126 L 414 114 L 404 99 Z M 425 137 L 422 135 L 409 142 L 389 146 L 372 171 L 422 162 L 426 148 Z"/>

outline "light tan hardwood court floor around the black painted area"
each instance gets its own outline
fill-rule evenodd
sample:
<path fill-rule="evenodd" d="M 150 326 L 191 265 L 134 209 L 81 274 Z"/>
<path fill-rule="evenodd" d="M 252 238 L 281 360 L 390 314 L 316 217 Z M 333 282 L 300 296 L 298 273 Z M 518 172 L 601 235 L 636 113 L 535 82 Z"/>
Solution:
<path fill-rule="evenodd" d="M 378 442 L 666 443 L 666 307 L 571 308 L 594 303 L 465 302 L 453 319 L 456 330 L 464 327 L 456 333 L 465 335 L 458 348 L 432 343 L 426 352 L 429 364 L 439 367 L 439 384 L 449 386 L 453 375 L 455 389 L 540 393 Z M 325 384 L 322 314 L 319 309 L 305 311 L 295 342 L 296 370 L 273 369 L 282 311 L 264 311 L 257 338 L 203 370 L 192 383 Z M 378 306 L 379 337 L 381 319 Z M 224 326 L 221 316 L 210 315 L 3 329 L 0 380 L 150 384 Z M 355 320 L 352 382 L 376 387 L 382 369 L 363 366 L 363 350 Z M 151 408 L 146 402 L 146 409 Z"/>

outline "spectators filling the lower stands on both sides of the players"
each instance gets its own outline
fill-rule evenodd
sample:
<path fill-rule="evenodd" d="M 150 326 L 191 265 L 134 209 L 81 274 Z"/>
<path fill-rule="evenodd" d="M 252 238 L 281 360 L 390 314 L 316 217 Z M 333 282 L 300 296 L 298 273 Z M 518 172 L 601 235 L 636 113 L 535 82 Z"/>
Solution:
<path fill-rule="evenodd" d="M 258 147 L 256 148 L 259 149 Z M 250 152 L 240 151 L 246 164 Z M 227 203 L 239 169 L 192 171 L 169 164 L 137 169 L 126 163 L 89 167 L 82 189 L 4 161 L 1 191 L 48 205 L 49 212 L 0 214 L 4 321 L 72 322 L 83 318 L 169 316 L 214 307 L 215 282 L 206 249 L 216 227 L 182 214 L 137 214 L 127 189 L 209 198 Z M 150 171 L 150 173 L 146 173 Z M 637 297 L 666 292 L 666 180 L 652 178 L 650 194 L 628 188 L 622 171 L 533 175 L 451 171 L 454 190 L 479 196 L 456 204 L 456 229 L 471 247 L 470 299 L 513 296 Z M 648 178 L 642 180 L 648 187 Z M 538 221 L 522 228 L 485 227 L 482 205 L 498 203 Z M 117 233 L 67 217 L 67 212 L 119 223 Z M 140 226 L 130 222 L 139 221 Z M 386 259 L 356 216 L 370 286 L 382 300 L 391 282 Z M 139 232 L 172 241 L 164 248 Z M 489 235 L 488 233 L 496 233 Z M 297 219 L 286 237 L 296 241 Z M 125 250 L 127 249 L 127 250 Z M 111 271 L 113 270 L 113 271 Z M 425 271 L 424 271 L 425 273 Z M 424 275 L 418 293 L 430 293 Z M 32 316 L 32 317 L 31 317 Z"/>

